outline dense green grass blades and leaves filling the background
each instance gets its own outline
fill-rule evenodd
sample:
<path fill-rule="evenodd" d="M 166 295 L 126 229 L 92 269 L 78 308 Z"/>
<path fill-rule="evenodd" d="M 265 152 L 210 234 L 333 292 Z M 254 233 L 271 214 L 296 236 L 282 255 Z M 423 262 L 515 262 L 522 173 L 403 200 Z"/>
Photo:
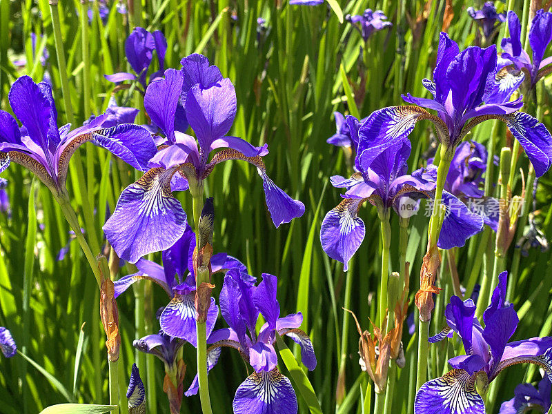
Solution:
<path fill-rule="evenodd" d="M 129 3 L 132 3 L 129 0 Z M 61 0 L 59 13 L 63 45 L 68 66 L 72 106 L 77 124 L 87 119 L 83 74 L 90 73 L 91 111 L 103 112 L 114 92 L 113 84 L 103 74 L 126 71 L 124 41 L 133 26 L 161 30 L 168 40 L 166 68 L 179 68 L 182 57 L 201 52 L 221 68 L 235 84 L 238 112 L 230 131 L 253 144 L 268 143 L 265 158 L 268 173 L 276 184 L 290 195 L 304 201 L 306 213 L 301 219 L 275 229 L 262 192 L 262 182 L 255 169 L 245 163 L 225 163 L 215 169 L 207 181 L 206 194 L 215 197 L 215 251 L 242 259 L 250 274 L 273 273 L 279 277 L 279 302 L 282 313 L 302 311 L 304 328 L 310 333 L 318 357 L 318 366 L 309 378 L 317 392 L 324 413 L 360 413 L 368 383 L 357 363 L 358 335 L 352 319 L 344 311 L 355 311 L 364 328 L 368 317 L 375 317 L 374 297 L 380 275 L 380 229 L 375 209 L 363 208 L 367 237 L 353 258 L 351 270 L 328 259 L 319 243 L 319 224 L 326 211 L 339 202 L 339 190 L 328 186 L 328 177 L 347 175 L 350 170 L 340 148 L 326 144 L 335 132 L 332 112 L 354 113 L 349 108 L 343 87 L 343 68 L 353 86 L 365 77 L 364 97 L 356 89 L 359 115 L 366 117 L 377 108 L 399 104 L 400 94 L 411 92 L 425 96 L 421 80 L 430 77 L 437 52 L 440 30 L 446 30 L 460 48 L 480 39 L 480 29 L 466 13 L 471 2 L 464 1 L 338 1 L 344 14 L 362 14 L 365 8 L 382 9 L 393 22 L 391 30 L 377 32 L 366 44 L 350 24 L 339 23 L 334 12 L 322 6 L 289 6 L 287 1 L 134 1 L 133 13 L 120 14 L 117 3 L 110 1 L 110 14 L 104 26 L 99 19 L 98 4 L 89 3 L 93 19 L 89 26 L 90 61 L 83 64 L 79 1 Z M 476 1 L 473 6 L 481 6 Z M 479 4 L 477 4 L 479 3 Z M 505 9 L 496 1 L 497 8 Z M 515 3 L 522 15 L 523 4 Z M 529 3 L 528 1 L 524 3 Z M 236 14 L 237 19 L 231 19 Z M 266 19 L 268 30 L 257 35 L 257 17 Z M 33 53 L 30 32 L 40 34 Z M 500 39 L 497 39 L 500 41 Z M 364 59 L 359 59 L 359 50 Z M 40 63 L 47 50 L 46 66 Z M 31 75 L 40 81 L 45 70 L 52 79 L 57 98 L 58 123 L 66 122 L 56 50 L 47 0 L 0 0 L 0 107 L 10 110 L 7 96 L 10 84 L 20 75 Z M 25 66 L 14 66 L 25 58 Z M 152 64 L 151 72 L 157 70 Z M 541 83 L 539 102 L 541 121 L 551 129 L 550 89 Z M 139 94 L 121 90 L 115 94 L 119 104 L 141 108 Z M 146 121 L 143 112 L 139 123 Z M 500 126 L 499 143 L 505 142 Z M 491 126 L 482 125 L 474 133 L 486 144 Z M 411 135 L 411 167 L 422 165 L 422 154 L 432 135 L 430 124 L 422 123 Z M 112 211 L 122 188 L 135 179 L 135 172 L 117 163 L 104 150 L 86 144 L 81 150 L 86 170 L 88 194 L 83 194 L 69 180 L 74 206 L 83 210 L 90 204 L 95 211 L 93 237 L 102 239 L 101 225 L 106 204 Z M 524 155 L 520 163 L 526 172 Z M 496 170 L 496 169 L 495 169 Z M 496 181 L 497 174 L 493 181 Z M 23 353 L 0 359 L 0 412 L 38 413 L 51 404 L 67 402 L 106 403 L 108 400 L 106 349 L 97 312 L 98 292 L 92 273 L 77 243 L 70 244 L 70 255 L 56 260 L 59 249 L 70 235 L 61 211 L 48 189 L 23 168 L 12 165 L 3 174 L 9 181 L 10 213 L 0 214 L 0 326 L 6 326 Z M 518 177 L 519 178 L 519 177 Z M 544 233 L 552 234 L 551 176 L 539 180 L 538 221 Z M 529 191 L 530 192 L 530 191 Z M 514 193 L 520 193 L 516 180 Z M 191 197 L 178 194 L 184 208 L 191 213 Z M 88 200 L 88 201 L 87 201 Z M 419 287 L 417 277 L 426 248 L 427 219 L 418 215 L 411 220 L 407 259 L 411 262 L 411 295 Z M 391 269 L 398 266 L 398 220 L 392 218 Z M 521 235 L 523 228 L 518 230 Z M 90 229 L 88 229 L 90 231 Z M 87 235 L 90 237 L 90 235 Z M 492 268 L 493 246 L 482 244 L 483 233 L 473 237 L 466 247 L 457 249 L 455 260 L 464 286 L 480 281 L 487 267 Z M 517 237 L 516 237 L 517 238 Z M 493 239 L 493 237 L 491 237 Z M 489 255 L 484 253 L 490 252 Z M 160 260 L 160 254 L 152 255 Z M 521 323 L 513 339 L 548 335 L 552 327 L 552 264 L 550 253 L 531 250 L 520 257 L 513 246 L 507 267 L 514 270 L 517 286 L 514 302 Z M 517 266 L 517 270 L 516 270 Z M 448 276 L 444 270 L 444 278 Z M 130 273 L 123 267 L 120 275 Z M 215 277 L 217 292 L 221 277 Z M 148 390 L 150 413 L 168 412 L 162 391 L 163 366 L 148 355 L 137 359 L 132 339 L 156 333 L 159 326 L 155 311 L 167 303 L 165 293 L 148 282 L 139 282 L 134 290 L 120 297 L 122 345 L 120 359 L 121 406 L 132 362 L 137 361 Z M 442 328 L 442 311 L 447 302 L 444 290 L 437 301 L 431 333 Z M 144 299 L 144 311 L 136 303 Z M 413 308 L 411 306 L 411 308 Z M 135 323 L 136 321 L 136 323 Z M 221 323 L 221 322 L 219 322 Z M 406 367 L 400 371 L 393 413 L 412 413 L 413 390 L 409 389 L 415 373 L 415 335 L 405 329 Z M 431 375 L 446 369 L 446 345 L 431 346 Z M 195 374 L 195 351 L 186 345 L 188 364 L 185 388 Z M 509 368 L 495 403 L 513 397 L 513 388 L 522 382 L 525 367 Z M 285 369 L 284 369 L 285 372 Z M 48 375 L 57 378 L 54 382 Z M 531 371 L 533 375 L 535 371 Z M 246 366 L 237 353 L 223 350 L 221 363 L 210 376 L 215 413 L 228 413 L 235 389 L 246 377 Z M 538 374 L 535 375 L 535 380 Z M 412 384 L 410 385 L 412 387 Z M 410 393 L 408 396 L 408 392 Z M 361 397 L 362 395 L 362 397 Z M 299 398 L 300 400 L 300 398 Z M 396 411 L 395 411 L 396 408 Z M 184 397 L 183 413 L 197 413 L 199 397 Z M 300 412 L 306 412 L 300 406 Z"/>

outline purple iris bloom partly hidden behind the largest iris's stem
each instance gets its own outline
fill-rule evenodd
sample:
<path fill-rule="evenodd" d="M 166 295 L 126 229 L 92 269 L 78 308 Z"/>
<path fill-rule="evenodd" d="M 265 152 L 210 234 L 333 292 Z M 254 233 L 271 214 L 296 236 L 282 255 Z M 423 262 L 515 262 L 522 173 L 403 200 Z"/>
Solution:
<path fill-rule="evenodd" d="M 147 279 L 155 282 L 165 290 L 170 299 L 159 317 L 161 330 L 170 337 L 185 339 L 196 346 L 194 249 L 195 233 L 186 224 L 184 235 L 163 251 L 163 266 L 146 259 L 139 259 L 136 262 L 138 273 L 121 277 L 115 282 L 115 297 L 124 293 L 138 280 Z M 246 270 L 242 262 L 226 253 L 217 253 L 211 257 L 213 272 L 229 268 Z M 212 297 L 207 317 L 207 335 L 213 331 L 218 314 L 215 298 Z"/>

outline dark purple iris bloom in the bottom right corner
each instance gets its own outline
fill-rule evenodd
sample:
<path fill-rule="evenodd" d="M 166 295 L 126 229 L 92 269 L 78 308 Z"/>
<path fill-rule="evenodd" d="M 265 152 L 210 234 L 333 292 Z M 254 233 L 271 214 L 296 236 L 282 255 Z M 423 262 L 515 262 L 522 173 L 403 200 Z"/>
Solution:
<path fill-rule="evenodd" d="M 550 408 L 551 383 L 546 375 L 535 388 L 531 384 L 520 384 L 515 387 L 514 397 L 500 406 L 498 414 L 518 414 L 540 411 L 548 413 Z"/>

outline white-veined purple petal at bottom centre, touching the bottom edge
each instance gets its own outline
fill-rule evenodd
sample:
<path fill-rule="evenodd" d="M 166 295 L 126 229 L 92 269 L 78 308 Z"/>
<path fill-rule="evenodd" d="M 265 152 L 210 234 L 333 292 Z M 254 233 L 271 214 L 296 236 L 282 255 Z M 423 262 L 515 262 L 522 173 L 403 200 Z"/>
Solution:
<path fill-rule="evenodd" d="M 234 414 L 297 414 L 293 386 L 275 368 L 253 373 L 237 388 L 232 404 Z"/>

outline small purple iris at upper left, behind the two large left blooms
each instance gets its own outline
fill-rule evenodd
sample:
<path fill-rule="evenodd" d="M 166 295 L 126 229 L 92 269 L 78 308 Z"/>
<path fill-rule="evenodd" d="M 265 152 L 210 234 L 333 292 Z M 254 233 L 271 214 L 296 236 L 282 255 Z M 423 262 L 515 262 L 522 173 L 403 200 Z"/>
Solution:
<path fill-rule="evenodd" d="M 165 53 L 167 51 L 167 39 L 164 34 L 156 30 L 153 33 L 144 28 L 135 28 L 125 42 L 125 54 L 130 67 L 135 74 L 128 72 L 117 72 L 113 75 L 103 75 L 110 82 L 134 81 L 137 80 L 144 87 L 148 87 L 146 76 L 148 68 L 153 59 L 153 51 L 157 52 L 159 70 L 150 75 L 151 83 L 154 79 L 163 76 L 165 70 Z"/>

